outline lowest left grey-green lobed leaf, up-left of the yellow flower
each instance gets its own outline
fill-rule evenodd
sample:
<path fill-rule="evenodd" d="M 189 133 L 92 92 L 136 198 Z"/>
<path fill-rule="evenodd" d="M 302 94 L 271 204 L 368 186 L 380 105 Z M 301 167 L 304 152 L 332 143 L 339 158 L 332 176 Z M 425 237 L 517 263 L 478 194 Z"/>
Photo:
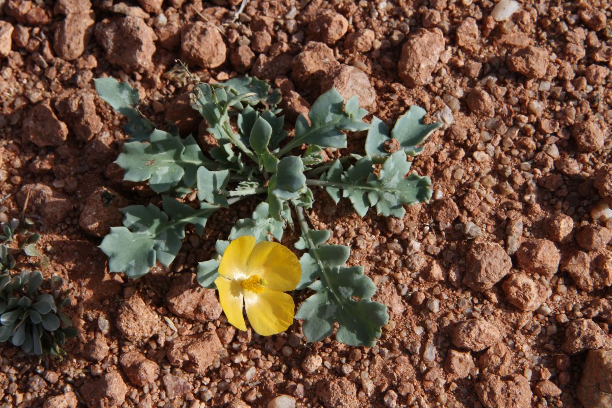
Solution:
<path fill-rule="evenodd" d="M 169 197 L 163 197 L 162 206 L 163 211 L 153 204 L 121 210 L 124 226 L 111 228 L 99 247 L 108 256 L 110 272 L 125 272 L 136 279 L 157 261 L 169 266 L 181 249 L 185 226 L 195 224 L 202 232 L 208 218 L 220 208 L 203 202 L 200 209 L 192 209 Z"/>

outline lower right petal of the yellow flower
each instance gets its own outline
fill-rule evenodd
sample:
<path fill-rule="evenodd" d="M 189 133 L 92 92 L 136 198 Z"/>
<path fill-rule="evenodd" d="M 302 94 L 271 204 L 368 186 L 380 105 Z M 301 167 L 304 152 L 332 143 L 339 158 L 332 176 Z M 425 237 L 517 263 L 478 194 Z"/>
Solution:
<path fill-rule="evenodd" d="M 262 293 L 244 292 L 248 322 L 261 336 L 284 332 L 293 323 L 295 305 L 286 293 L 266 287 Z"/>

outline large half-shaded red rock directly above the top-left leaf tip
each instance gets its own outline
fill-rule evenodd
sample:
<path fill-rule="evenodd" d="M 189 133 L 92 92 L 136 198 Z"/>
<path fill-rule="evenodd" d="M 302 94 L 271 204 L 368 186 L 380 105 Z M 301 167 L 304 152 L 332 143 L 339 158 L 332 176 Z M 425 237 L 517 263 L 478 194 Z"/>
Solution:
<path fill-rule="evenodd" d="M 142 18 L 102 20 L 95 27 L 95 37 L 106 50 L 106 59 L 126 73 L 154 70 L 155 32 Z"/>

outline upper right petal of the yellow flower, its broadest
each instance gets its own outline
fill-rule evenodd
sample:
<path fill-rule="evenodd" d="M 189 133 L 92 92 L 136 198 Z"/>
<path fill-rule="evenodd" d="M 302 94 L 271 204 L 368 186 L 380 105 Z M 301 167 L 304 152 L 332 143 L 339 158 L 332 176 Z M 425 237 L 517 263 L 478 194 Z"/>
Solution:
<path fill-rule="evenodd" d="M 247 262 L 247 275 L 259 275 L 264 286 L 275 291 L 293 291 L 302 277 L 296 254 L 277 242 L 259 242 Z"/>

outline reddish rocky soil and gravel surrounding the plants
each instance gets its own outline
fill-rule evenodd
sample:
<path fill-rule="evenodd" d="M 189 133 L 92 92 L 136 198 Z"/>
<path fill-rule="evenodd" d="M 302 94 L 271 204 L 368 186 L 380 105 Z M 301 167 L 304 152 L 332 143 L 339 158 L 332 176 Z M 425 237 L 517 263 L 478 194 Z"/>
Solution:
<path fill-rule="evenodd" d="M 61 362 L 5 344 L 0 407 L 612 406 L 612 4 L 240 3 L 0 0 L 0 220 L 37 221 L 80 330 Z M 92 78 L 206 146 L 179 57 L 203 81 L 271 81 L 288 121 L 335 86 L 389 124 L 413 104 L 444 122 L 413 161 L 433 199 L 403 219 L 315 192 L 315 226 L 389 306 L 376 347 L 228 325 L 193 273 L 253 202 L 188 232 L 170 270 L 107 272 L 100 237 L 154 194 L 122 182 L 127 136 Z M 363 154 L 349 141 L 327 153 Z"/>

